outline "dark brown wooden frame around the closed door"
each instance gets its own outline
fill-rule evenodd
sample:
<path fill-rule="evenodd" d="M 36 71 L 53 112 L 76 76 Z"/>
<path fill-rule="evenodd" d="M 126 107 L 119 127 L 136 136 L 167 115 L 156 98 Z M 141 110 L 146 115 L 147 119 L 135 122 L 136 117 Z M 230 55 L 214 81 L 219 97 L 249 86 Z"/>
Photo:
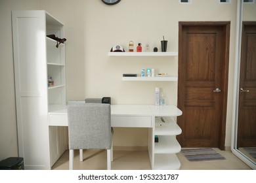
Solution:
<path fill-rule="evenodd" d="M 225 50 L 224 50 L 224 73 L 223 73 L 223 116 L 219 131 L 219 148 L 224 150 L 225 148 L 225 138 L 226 138 L 226 108 L 227 108 L 227 98 L 228 98 L 228 66 L 229 66 L 229 48 L 230 48 L 230 22 L 179 22 L 179 69 L 178 78 L 181 76 L 181 62 L 182 62 L 182 28 L 187 26 L 222 26 L 225 32 Z M 179 97 L 181 96 L 181 83 L 178 80 L 178 107 L 179 107 Z M 179 121 L 179 118 L 177 119 Z"/>

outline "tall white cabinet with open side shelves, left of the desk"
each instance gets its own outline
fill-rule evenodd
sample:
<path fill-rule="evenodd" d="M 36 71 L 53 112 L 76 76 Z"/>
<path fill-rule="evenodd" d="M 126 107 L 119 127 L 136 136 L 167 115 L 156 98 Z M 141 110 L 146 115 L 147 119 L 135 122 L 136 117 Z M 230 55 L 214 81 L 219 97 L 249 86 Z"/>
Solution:
<path fill-rule="evenodd" d="M 18 151 L 25 169 L 51 169 L 67 149 L 66 127 L 49 127 L 51 108 L 66 105 L 64 25 L 44 10 L 12 11 Z M 49 87 L 47 78 L 54 85 Z"/>

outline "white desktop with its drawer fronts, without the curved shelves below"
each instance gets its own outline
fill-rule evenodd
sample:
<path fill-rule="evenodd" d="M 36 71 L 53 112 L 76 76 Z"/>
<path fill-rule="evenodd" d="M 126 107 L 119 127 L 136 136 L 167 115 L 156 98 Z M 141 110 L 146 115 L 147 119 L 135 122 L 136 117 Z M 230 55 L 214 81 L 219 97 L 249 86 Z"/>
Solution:
<path fill-rule="evenodd" d="M 49 125 L 68 126 L 66 105 L 49 108 Z M 181 116 L 174 105 L 111 105 L 112 127 L 153 127 L 156 116 Z"/>

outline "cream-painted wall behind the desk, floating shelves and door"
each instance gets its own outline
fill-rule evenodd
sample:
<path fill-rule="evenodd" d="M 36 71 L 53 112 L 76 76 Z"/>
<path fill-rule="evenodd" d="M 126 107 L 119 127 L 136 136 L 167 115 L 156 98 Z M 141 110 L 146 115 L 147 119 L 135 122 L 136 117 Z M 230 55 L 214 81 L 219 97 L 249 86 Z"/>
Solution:
<path fill-rule="evenodd" d="M 180 21 L 230 21 L 225 142 L 225 146 L 230 146 L 236 0 L 224 4 L 219 3 L 218 0 L 193 0 L 188 5 L 179 3 L 179 0 L 122 0 L 114 6 L 104 5 L 100 0 L 33 2 L 23 0 L 22 2 L 0 0 L 0 36 L 3 37 L 0 42 L 0 59 L 3 59 L 0 97 L 1 101 L 4 101 L 1 102 L 0 111 L 0 142 L 8 147 L 6 150 L 1 148 L 0 159 L 9 156 L 10 153 L 17 153 L 11 40 L 11 10 L 14 9 L 44 9 L 66 25 L 68 100 L 110 96 L 113 104 L 153 104 L 154 88 L 160 86 L 166 93 L 167 104 L 177 105 L 177 82 L 123 82 L 121 76 L 123 73 L 140 73 L 140 69 L 146 67 L 155 68 L 161 73 L 178 75 L 177 58 L 170 60 L 169 58 L 110 58 L 107 52 L 114 44 L 121 44 L 127 50 L 129 41 L 133 40 L 135 44 L 138 42 L 141 42 L 142 46 L 150 44 L 151 49 L 157 46 L 160 50 L 160 41 L 164 35 L 168 40 L 167 51 L 178 51 Z M 5 110 L 7 107 L 9 109 Z M 147 129 L 115 129 L 114 145 L 146 146 L 146 134 Z M 11 139 L 14 139 L 12 143 Z"/>

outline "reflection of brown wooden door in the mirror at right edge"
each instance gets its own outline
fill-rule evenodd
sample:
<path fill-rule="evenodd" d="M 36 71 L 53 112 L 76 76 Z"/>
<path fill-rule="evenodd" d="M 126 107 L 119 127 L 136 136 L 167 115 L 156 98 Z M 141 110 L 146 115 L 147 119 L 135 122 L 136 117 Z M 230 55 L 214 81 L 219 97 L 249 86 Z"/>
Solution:
<path fill-rule="evenodd" d="M 238 148 L 256 147 L 256 22 L 243 22 Z"/>

